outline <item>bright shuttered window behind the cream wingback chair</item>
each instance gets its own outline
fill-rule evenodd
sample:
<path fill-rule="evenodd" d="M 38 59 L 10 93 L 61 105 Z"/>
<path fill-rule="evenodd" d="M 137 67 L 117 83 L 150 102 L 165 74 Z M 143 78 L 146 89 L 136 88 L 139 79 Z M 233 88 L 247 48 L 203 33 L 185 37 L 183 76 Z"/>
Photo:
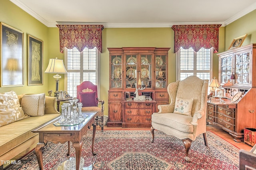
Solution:
<path fill-rule="evenodd" d="M 196 75 L 200 79 L 210 80 L 212 77 L 212 53 L 212 48 L 201 48 L 198 52 L 192 48 L 180 48 L 176 53 L 176 79 L 184 80 L 190 75 Z"/>

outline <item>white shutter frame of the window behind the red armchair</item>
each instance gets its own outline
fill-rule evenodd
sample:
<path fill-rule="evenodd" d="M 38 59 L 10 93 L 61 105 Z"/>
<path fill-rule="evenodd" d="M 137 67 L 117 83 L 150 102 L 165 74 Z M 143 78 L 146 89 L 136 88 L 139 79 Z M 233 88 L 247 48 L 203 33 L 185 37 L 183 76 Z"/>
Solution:
<path fill-rule="evenodd" d="M 95 47 L 96 48 L 96 47 Z M 83 80 L 83 73 L 86 72 L 92 72 L 92 70 L 84 70 L 84 69 L 80 69 L 80 71 L 75 71 L 75 70 L 68 70 L 67 65 L 68 65 L 68 49 L 65 47 L 64 48 L 64 63 L 65 63 L 65 67 L 67 72 L 80 72 L 80 84 L 84 81 Z M 80 68 L 83 68 L 83 51 L 80 52 Z M 93 71 L 94 72 L 94 71 Z M 96 85 L 98 86 L 98 98 L 100 99 L 100 51 L 96 48 Z M 65 91 L 67 91 L 67 87 L 68 87 L 68 76 L 67 74 L 65 74 L 64 77 L 64 89 Z M 73 96 L 76 98 L 76 96 Z"/>

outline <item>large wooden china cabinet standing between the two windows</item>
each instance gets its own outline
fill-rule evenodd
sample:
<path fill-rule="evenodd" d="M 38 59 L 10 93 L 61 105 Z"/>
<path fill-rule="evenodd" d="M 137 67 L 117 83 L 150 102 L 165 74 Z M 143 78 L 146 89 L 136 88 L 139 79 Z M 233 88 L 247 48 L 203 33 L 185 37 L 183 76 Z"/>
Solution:
<path fill-rule="evenodd" d="M 167 93 L 170 48 L 108 48 L 110 81 L 108 123 L 110 127 L 150 127 L 157 106 L 169 103 Z M 138 90 L 142 100 L 134 100 Z M 136 97 L 137 98 L 137 97 Z"/>

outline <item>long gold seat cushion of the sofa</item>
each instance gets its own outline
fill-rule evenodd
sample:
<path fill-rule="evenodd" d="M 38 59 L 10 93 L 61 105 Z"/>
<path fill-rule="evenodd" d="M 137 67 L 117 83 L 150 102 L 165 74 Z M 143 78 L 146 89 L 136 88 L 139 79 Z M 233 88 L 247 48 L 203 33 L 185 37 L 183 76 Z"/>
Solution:
<path fill-rule="evenodd" d="M 0 156 L 37 134 L 31 130 L 58 116 L 60 115 L 33 116 L 0 127 Z"/>

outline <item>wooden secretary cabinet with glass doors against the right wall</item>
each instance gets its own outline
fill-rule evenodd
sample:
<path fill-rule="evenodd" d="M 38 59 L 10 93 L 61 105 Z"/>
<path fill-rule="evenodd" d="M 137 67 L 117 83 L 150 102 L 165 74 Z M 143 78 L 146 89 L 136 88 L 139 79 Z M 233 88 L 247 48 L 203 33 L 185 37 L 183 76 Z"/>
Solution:
<path fill-rule="evenodd" d="M 244 128 L 256 128 L 256 44 L 217 54 L 219 82 L 226 97 L 207 103 L 207 121 L 229 132 L 236 142 L 244 138 Z M 233 79 L 231 77 L 234 77 Z"/>

